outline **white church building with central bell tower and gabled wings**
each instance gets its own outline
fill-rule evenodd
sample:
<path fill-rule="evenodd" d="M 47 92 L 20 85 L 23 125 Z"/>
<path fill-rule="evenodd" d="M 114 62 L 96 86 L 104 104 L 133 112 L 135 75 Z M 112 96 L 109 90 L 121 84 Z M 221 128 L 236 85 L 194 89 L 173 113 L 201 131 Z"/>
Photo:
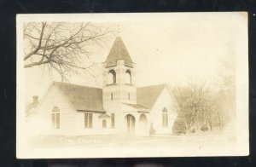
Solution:
<path fill-rule="evenodd" d="M 102 89 L 54 82 L 27 125 L 38 135 L 172 134 L 177 104 L 169 85 L 138 88 L 136 64 L 121 37 L 102 66 Z"/>

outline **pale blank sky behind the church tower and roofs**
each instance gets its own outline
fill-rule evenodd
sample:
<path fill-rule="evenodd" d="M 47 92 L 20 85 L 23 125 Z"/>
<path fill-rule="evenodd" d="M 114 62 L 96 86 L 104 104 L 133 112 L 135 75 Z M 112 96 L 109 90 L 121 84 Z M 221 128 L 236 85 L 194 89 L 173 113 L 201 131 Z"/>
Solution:
<path fill-rule="evenodd" d="M 117 35 L 123 39 L 136 63 L 137 87 L 160 83 L 175 86 L 191 81 L 206 81 L 213 85 L 224 61 L 236 60 L 238 55 L 246 53 L 246 14 L 173 13 L 168 17 L 165 14 L 149 16 L 133 16 L 127 20 L 111 20 L 106 16 L 101 23 L 118 27 Z M 96 48 L 92 54 L 95 62 L 106 60 L 114 38 L 111 37 L 104 47 Z M 83 74 L 70 76 L 69 80 L 101 88 L 100 68 L 92 70 L 96 78 Z M 41 67 L 26 68 L 24 72 L 26 103 L 32 101 L 32 95 L 38 95 L 40 100 L 53 80 L 60 81 L 58 75 L 49 76 Z"/>

